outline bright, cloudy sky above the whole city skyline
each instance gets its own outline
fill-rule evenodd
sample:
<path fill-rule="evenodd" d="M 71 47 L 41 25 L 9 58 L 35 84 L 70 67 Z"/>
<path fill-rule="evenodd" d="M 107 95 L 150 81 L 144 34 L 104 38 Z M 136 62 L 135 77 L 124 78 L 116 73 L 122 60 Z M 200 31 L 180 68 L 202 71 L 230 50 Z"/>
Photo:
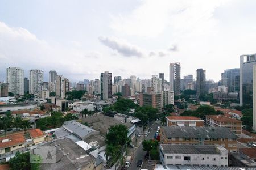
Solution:
<path fill-rule="evenodd" d="M 179 62 L 220 80 L 256 53 L 256 1 L 0 1 L 0 81 L 7 67 L 49 70 L 71 81 L 136 75 L 149 79 Z"/>

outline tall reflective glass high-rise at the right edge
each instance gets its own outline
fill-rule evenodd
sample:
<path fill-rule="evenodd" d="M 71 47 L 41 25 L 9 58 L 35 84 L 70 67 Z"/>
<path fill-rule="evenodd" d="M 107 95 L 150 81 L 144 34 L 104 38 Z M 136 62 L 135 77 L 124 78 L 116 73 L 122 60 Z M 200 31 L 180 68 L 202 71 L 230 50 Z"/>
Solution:
<path fill-rule="evenodd" d="M 256 64 L 256 54 L 240 56 L 240 105 L 253 104 L 253 65 Z"/>

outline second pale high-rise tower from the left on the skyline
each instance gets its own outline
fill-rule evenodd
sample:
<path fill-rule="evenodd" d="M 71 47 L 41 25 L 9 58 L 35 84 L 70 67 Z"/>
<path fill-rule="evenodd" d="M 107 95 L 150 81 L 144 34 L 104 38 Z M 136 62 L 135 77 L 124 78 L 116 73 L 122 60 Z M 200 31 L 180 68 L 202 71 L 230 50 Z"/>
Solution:
<path fill-rule="evenodd" d="M 30 70 L 30 94 L 39 91 L 39 85 L 43 83 L 44 72 L 42 70 Z"/>

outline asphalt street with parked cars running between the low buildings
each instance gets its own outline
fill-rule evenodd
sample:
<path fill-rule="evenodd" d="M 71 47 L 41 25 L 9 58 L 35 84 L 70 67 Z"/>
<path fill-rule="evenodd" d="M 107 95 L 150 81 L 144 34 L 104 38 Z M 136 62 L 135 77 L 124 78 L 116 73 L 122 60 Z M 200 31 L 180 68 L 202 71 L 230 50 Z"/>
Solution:
<path fill-rule="evenodd" d="M 158 129 L 158 126 L 160 126 L 160 123 L 157 122 L 155 124 L 153 124 L 152 130 L 150 132 L 150 134 L 148 134 L 148 137 L 146 137 L 146 139 L 154 139 L 154 135 L 156 133 L 156 130 Z M 142 138 L 142 137 L 141 137 Z M 129 170 L 135 170 L 135 169 L 139 169 L 139 167 L 137 167 L 136 163 L 138 160 L 142 160 L 142 162 L 144 161 L 144 156 L 146 155 L 146 151 L 143 151 L 143 146 L 142 146 L 142 142 L 141 145 L 138 146 L 137 150 L 134 152 L 134 158 L 133 161 L 130 164 L 130 167 L 128 168 Z"/>

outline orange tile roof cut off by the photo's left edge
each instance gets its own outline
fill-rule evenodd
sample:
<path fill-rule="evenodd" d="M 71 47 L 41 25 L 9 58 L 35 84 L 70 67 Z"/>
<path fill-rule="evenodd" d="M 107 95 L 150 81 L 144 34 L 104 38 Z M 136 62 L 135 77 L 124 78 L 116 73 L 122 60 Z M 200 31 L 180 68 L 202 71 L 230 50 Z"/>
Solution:
<path fill-rule="evenodd" d="M 10 139 L 10 141 L 2 142 L 4 139 Z M 0 138 L 0 148 L 6 148 L 14 145 L 19 145 L 25 143 L 26 139 L 23 133 L 9 135 L 7 137 Z"/>

